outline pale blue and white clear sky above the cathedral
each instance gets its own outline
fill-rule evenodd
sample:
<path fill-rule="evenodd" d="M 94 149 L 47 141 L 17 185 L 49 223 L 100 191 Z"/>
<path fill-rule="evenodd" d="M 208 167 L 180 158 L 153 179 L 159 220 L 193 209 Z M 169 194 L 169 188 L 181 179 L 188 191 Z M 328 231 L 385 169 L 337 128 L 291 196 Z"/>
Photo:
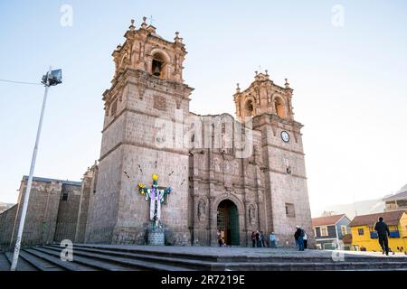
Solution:
<path fill-rule="evenodd" d="M 61 25 L 71 5 L 72 26 Z M 344 14 L 338 14 L 335 5 Z M 337 6 L 336 6 L 337 7 Z M 80 181 L 99 158 L 111 52 L 130 19 L 153 15 L 157 33 L 184 37 L 191 110 L 234 114 L 236 82 L 269 70 L 294 89 L 303 123 L 311 209 L 383 197 L 407 182 L 406 1 L 5 1 L 0 79 L 50 91 L 35 175 Z M 344 17 L 340 17 L 343 15 Z M 337 18 L 339 17 L 339 18 Z M 30 168 L 43 87 L 0 82 L 0 201 L 15 202 Z"/>

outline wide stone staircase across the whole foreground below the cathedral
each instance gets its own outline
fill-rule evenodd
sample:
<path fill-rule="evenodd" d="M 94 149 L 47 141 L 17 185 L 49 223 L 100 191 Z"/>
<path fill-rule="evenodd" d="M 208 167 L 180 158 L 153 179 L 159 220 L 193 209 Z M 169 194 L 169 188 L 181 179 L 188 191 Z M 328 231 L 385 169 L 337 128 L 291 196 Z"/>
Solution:
<path fill-rule="evenodd" d="M 75 244 L 73 261 L 61 260 L 57 244 L 24 247 L 20 271 L 325 271 L 325 270 L 406 270 L 407 256 L 345 253 L 335 262 L 330 251 L 219 247 L 141 247 Z M 0 256 L 0 269 L 11 263 L 13 253 Z M 6 267 L 6 266 L 5 266 Z"/>

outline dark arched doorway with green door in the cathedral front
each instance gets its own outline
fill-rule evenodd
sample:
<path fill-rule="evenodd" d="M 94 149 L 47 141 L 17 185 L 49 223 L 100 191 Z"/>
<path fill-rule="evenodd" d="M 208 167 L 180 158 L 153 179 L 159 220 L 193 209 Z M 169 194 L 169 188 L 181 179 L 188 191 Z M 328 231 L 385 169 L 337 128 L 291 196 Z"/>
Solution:
<path fill-rule="evenodd" d="M 222 200 L 218 206 L 217 227 L 221 231 L 223 243 L 239 246 L 239 211 L 232 200 Z"/>

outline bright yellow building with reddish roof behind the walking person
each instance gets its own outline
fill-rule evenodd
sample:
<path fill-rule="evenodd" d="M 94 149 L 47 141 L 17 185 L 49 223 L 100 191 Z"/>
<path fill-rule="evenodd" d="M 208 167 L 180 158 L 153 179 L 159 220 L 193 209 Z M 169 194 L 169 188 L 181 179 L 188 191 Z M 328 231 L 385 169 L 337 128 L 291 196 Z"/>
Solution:
<path fill-rule="evenodd" d="M 407 210 L 356 216 L 349 224 L 352 232 L 352 247 L 355 251 L 381 252 L 374 224 L 379 217 L 390 230 L 389 247 L 393 252 L 407 252 Z"/>

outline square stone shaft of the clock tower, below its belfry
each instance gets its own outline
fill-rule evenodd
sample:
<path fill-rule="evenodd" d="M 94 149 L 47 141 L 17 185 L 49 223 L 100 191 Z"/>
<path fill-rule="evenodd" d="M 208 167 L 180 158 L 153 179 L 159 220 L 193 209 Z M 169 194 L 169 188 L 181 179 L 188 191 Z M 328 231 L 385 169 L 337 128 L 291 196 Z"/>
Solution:
<path fill-rule="evenodd" d="M 308 233 L 309 247 L 314 247 L 315 238 L 311 227 L 311 212 L 308 201 L 307 174 L 300 128 L 295 121 L 281 119 L 271 114 L 263 114 L 253 119 L 254 128 L 261 132 L 262 154 L 265 163 L 266 194 L 270 204 L 268 219 L 272 225 L 268 231 L 274 231 L 279 244 L 294 246 L 296 226 Z M 290 135 L 289 142 L 281 139 L 281 132 Z M 286 206 L 293 207 L 288 214 Z"/>

